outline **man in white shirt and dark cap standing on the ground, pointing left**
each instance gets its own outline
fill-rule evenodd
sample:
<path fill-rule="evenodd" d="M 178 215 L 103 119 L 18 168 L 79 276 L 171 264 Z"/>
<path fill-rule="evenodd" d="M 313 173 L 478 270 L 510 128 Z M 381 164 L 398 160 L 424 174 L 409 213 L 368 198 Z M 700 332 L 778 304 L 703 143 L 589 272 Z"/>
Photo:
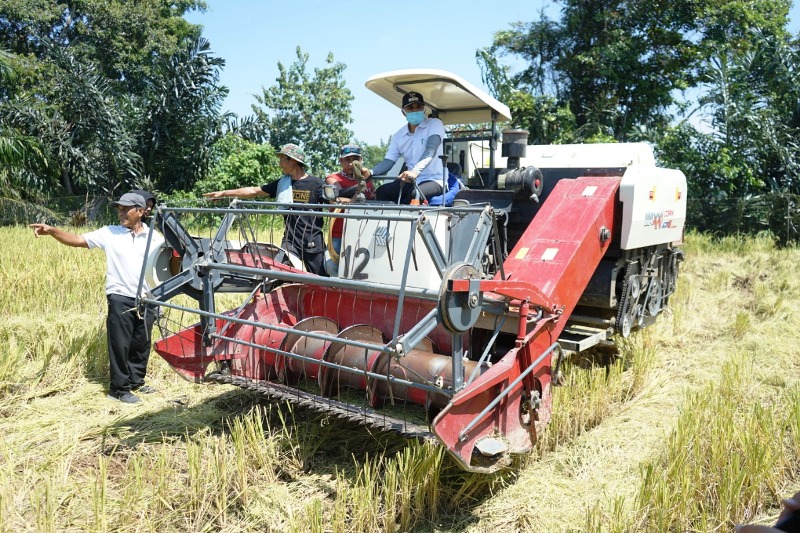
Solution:
<path fill-rule="evenodd" d="M 146 308 L 139 313 L 136 296 L 139 277 L 145 261 L 150 228 L 142 222 L 147 203 L 136 193 L 125 193 L 113 202 L 117 208 L 119 226 L 104 226 L 98 230 L 76 235 L 48 226 L 31 224 L 33 234 L 50 235 L 58 242 L 75 248 L 101 248 L 106 254 L 106 299 L 108 317 L 108 358 L 111 384 L 109 398 L 123 403 L 139 403 L 133 391 L 155 392 L 144 384 L 150 358 L 150 335 L 156 312 Z M 157 249 L 164 238 L 153 232 L 150 250 Z M 149 291 L 147 282 L 142 291 Z"/>

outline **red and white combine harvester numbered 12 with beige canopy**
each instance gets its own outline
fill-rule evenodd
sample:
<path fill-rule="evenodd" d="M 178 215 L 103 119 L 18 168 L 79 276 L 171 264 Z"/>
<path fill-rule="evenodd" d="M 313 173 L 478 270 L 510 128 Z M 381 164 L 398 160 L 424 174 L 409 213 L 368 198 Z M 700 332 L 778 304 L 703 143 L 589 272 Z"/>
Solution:
<path fill-rule="evenodd" d="M 445 141 L 466 185 L 453 205 L 160 206 L 166 245 L 150 254 L 155 289 L 141 301 L 191 320 L 162 319 L 154 347 L 193 382 L 435 436 L 464 469 L 494 472 L 547 425 L 566 351 L 608 345 L 667 305 L 686 179 L 645 144 L 526 146 L 507 130 L 498 150 L 508 108 L 448 72 L 366 85 L 398 106 L 422 93 L 445 125 L 491 125 Z M 271 244 L 282 230 L 265 228 L 287 214 L 344 220 L 338 277 Z M 181 222 L 209 215 L 222 222 L 207 237 Z M 243 297 L 219 311 L 221 293 Z"/>

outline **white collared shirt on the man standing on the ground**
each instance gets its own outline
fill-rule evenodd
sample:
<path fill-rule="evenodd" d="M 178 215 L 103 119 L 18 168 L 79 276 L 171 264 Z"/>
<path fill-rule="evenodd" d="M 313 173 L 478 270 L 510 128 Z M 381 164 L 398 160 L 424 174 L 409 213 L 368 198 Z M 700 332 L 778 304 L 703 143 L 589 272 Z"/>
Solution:
<path fill-rule="evenodd" d="M 147 239 L 152 232 L 147 224 L 142 224 L 142 227 L 142 231 L 134 233 L 125 226 L 104 226 L 83 235 L 89 248 L 100 248 L 106 254 L 106 294 L 136 297 L 142 264 L 146 260 Z M 164 237 L 158 232 L 152 234 L 150 254 L 164 242 Z M 152 287 L 145 281 L 143 288 L 149 291 Z"/>

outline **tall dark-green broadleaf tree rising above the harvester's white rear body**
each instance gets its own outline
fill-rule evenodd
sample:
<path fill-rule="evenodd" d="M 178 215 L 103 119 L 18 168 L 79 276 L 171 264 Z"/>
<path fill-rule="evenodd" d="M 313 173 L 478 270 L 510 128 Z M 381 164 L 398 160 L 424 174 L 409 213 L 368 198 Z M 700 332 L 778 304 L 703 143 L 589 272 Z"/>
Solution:
<path fill-rule="evenodd" d="M 626 140 L 665 129 L 678 92 L 697 85 L 704 59 L 723 45 L 752 46 L 750 32 L 783 32 L 788 0 L 565 0 L 558 21 L 540 15 L 497 32 L 486 57 L 515 56 L 525 93 L 551 96 L 575 117 L 575 140 Z"/>

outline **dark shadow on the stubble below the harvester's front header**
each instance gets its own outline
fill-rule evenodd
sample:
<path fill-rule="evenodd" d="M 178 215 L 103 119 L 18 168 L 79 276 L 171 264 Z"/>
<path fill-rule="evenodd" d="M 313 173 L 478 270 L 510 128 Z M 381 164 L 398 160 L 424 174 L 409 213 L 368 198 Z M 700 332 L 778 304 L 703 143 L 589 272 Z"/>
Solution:
<path fill-rule="evenodd" d="M 165 407 L 118 419 L 108 425 L 104 434 L 103 452 L 125 453 L 143 443 L 185 441 L 203 436 L 230 433 L 236 419 L 251 416 L 259 409 L 265 433 L 288 431 L 298 446 L 296 453 L 303 458 L 302 471 L 287 473 L 281 480 L 287 483 L 304 479 L 335 479 L 337 474 L 355 479 L 365 463 L 377 457 L 392 458 L 410 441 L 394 433 L 372 431 L 353 422 L 343 421 L 302 407 L 263 399 L 258 393 L 243 390 L 223 390 L 218 395 L 191 405 L 187 398 L 166 399 Z M 431 453 L 441 453 L 432 446 Z M 516 471 L 502 474 L 471 474 L 461 470 L 455 461 L 444 454 L 438 476 L 442 494 L 442 510 L 437 524 L 431 527 L 447 531 L 463 531 L 479 520 L 472 511 L 484 503 L 500 484 L 513 482 Z M 321 491 L 334 496 L 330 485 L 319 485 Z M 463 496 L 463 494 L 468 496 Z M 453 495 L 461 496 L 453 496 Z M 448 495 L 454 498 L 447 501 Z M 427 529 L 428 531 L 430 529 Z"/>

